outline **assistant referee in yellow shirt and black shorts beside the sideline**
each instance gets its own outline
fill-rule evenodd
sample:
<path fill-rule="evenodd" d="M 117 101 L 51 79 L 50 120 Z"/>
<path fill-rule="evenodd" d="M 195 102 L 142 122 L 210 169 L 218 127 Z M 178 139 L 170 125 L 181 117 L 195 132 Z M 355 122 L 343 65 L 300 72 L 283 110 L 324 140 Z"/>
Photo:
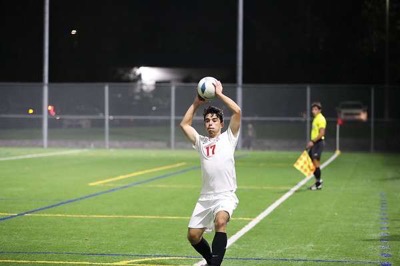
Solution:
<path fill-rule="evenodd" d="M 315 183 L 310 187 L 311 190 L 322 189 L 322 179 L 321 179 L 321 169 L 320 160 L 322 151 L 325 146 L 325 128 L 326 119 L 321 113 L 322 105 L 320 102 L 314 102 L 311 104 L 311 112 L 314 116 L 311 129 L 311 140 L 307 143 L 306 149 L 308 149 L 308 154 L 315 166 L 314 177 Z"/>

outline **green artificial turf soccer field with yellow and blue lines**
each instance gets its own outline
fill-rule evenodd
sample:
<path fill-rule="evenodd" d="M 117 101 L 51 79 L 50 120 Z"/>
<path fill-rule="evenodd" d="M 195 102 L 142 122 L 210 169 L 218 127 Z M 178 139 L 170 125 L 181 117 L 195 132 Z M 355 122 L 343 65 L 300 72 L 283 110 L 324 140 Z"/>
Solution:
<path fill-rule="evenodd" d="M 240 203 L 228 237 L 305 178 L 293 167 L 299 155 L 236 153 Z M 399 162 L 342 153 L 322 170 L 321 191 L 307 190 L 310 179 L 237 239 L 223 265 L 399 265 Z M 2 265 L 200 260 L 186 240 L 200 191 L 195 151 L 1 148 L 0 184 Z"/>

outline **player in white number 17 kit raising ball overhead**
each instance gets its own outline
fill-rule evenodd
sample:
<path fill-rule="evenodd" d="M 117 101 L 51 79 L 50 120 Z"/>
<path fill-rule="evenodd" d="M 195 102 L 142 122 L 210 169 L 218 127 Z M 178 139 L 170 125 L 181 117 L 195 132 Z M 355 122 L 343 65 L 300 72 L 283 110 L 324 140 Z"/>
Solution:
<path fill-rule="evenodd" d="M 228 242 L 226 234 L 229 219 L 239 200 L 236 197 L 236 170 L 234 152 L 238 142 L 241 109 L 222 93 L 220 81 L 216 97 L 232 112 L 228 128 L 222 133 L 224 115 L 221 109 L 209 106 L 203 118 L 207 136 L 192 127 L 196 110 L 205 103 L 198 95 L 184 115 L 180 126 L 183 133 L 200 155 L 202 189 L 188 225 L 187 238 L 193 248 L 207 261 L 207 265 L 221 265 Z M 210 247 L 203 234 L 215 231 Z"/>

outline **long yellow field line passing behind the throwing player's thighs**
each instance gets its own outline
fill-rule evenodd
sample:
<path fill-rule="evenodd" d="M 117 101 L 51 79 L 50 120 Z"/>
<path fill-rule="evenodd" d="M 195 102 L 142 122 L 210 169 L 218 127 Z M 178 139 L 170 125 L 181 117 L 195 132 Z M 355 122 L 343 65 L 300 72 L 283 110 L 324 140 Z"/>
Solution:
<path fill-rule="evenodd" d="M 11 216 L 15 213 L 0 212 L 0 216 Z M 66 217 L 66 218 L 127 218 L 127 219 L 166 219 L 166 220 L 189 220 L 190 217 L 186 216 L 157 216 L 157 215 L 85 215 L 85 214 L 51 214 L 51 213 L 28 213 L 25 216 L 36 217 Z M 232 217 L 232 220 L 251 221 L 253 218 L 246 217 Z"/>

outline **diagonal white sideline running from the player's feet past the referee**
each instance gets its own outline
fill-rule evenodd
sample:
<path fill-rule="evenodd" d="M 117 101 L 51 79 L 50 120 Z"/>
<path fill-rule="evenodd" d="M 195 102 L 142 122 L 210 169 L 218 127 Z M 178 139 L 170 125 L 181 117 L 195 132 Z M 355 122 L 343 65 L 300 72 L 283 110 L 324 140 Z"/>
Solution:
<path fill-rule="evenodd" d="M 337 150 L 326 162 L 324 162 L 320 168 L 323 169 L 325 166 L 328 166 L 331 162 L 333 162 L 336 157 L 338 157 L 340 151 Z M 282 197 L 280 197 L 277 201 L 272 203 L 268 208 L 266 208 L 262 213 L 260 213 L 256 218 L 254 218 L 251 222 L 245 225 L 242 229 L 240 229 L 236 234 L 231 236 L 228 239 L 228 244 L 226 248 L 229 248 L 233 243 L 235 243 L 239 238 L 241 238 L 244 234 L 250 231 L 254 226 L 256 226 L 259 222 L 261 222 L 265 217 L 267 217 L 273 210 L 275 210 L 279 205 L 281 205 L 285 200 L 287 200 L 290 196 L 293 195 L 296 190 L 302 187 L 308 180 L 310 180 L 314 175 L 310 175 L 305 177 L 299 183 L 297 183 L 294 187 L 292 187 L 288 192 L 286 192 Z M 194 266 L 204 265 L 206 261 L 203 259 L 195 264 Z"/>

